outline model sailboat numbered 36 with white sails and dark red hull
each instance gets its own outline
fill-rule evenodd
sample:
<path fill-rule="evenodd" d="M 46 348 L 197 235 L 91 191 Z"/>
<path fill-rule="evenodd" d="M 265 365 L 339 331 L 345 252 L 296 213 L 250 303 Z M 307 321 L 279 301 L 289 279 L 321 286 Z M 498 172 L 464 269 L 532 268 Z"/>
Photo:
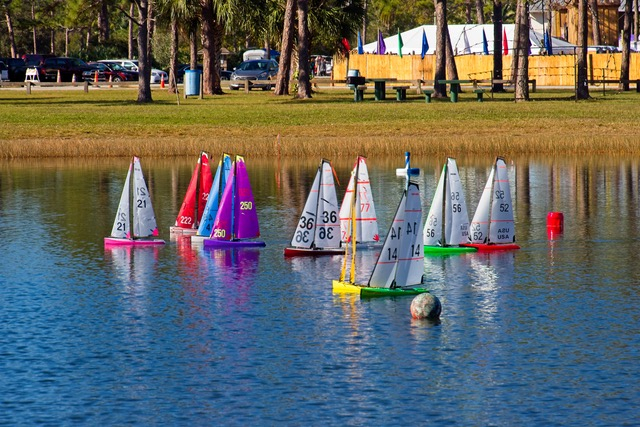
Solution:
<path fill-rule="evenodd" d="M 336 255 L 340 247 L 338 196 L 331 162 L 322 159 L 285 256 Z"/>

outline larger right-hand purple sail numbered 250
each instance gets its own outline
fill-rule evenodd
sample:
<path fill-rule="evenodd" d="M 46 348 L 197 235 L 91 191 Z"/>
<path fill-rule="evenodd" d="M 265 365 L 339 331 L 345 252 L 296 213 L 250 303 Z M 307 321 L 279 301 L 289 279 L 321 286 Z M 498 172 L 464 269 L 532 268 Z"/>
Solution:
<path fill-rule="evenodd" d="M 244 158 L 236 156 L 236 197 L 234 210 L 234 237 L 236 239 L 253 239 L 260 236 L 258 213 L 256 203 L 251 191 L 249 174 L 244 163 Z M 222 207 L 220 207 L 222 210 Z"/>

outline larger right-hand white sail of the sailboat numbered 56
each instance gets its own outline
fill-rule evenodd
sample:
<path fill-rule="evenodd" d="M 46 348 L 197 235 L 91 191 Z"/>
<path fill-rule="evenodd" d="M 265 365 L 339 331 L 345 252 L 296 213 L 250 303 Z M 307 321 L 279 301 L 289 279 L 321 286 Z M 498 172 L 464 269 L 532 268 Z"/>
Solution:
<path fill-rule="evenodd" d="M 469 213 L 462 190 L 462 181 L 458 173 L 456 160 L 447 159 L 448 201 L 445 209 L 445 242 L 458 246 L 467 243 L 469 238 Z"/>

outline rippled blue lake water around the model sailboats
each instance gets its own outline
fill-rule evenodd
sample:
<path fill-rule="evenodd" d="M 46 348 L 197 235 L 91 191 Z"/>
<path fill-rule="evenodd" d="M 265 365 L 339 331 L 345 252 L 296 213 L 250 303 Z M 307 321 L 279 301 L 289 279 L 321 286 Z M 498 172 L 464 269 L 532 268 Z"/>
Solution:
<path fill-rule="evenodd" d="M 167 240 L 192 160 L 142 159 Z M 507 159 L 522 249 L 426 258 L 436 323 L 283 258 L 318 160 L 247 159 L 241 251 L 105 250 L 128 159 L 0 163 L 0 424 L 637 425 L 640 159 Z M 425 210 L 442 160 L 413 159 Z M 491 162 L 458 159 L 470 216 Z M 402 163 L 369 162 L 382 234 Z"/>

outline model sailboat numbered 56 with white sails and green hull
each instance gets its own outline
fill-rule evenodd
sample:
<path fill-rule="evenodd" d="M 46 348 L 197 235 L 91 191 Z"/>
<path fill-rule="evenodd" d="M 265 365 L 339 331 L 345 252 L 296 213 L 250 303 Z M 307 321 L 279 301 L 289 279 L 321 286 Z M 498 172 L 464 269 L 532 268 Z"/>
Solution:
<path fill-rule="evenodd" d="M 448 158 L 442 167 L 423 238 L 425 254 L 476 251 L 475 248 L 460 246 L 468 243 L 469 214 L 455 159 Z"/>

